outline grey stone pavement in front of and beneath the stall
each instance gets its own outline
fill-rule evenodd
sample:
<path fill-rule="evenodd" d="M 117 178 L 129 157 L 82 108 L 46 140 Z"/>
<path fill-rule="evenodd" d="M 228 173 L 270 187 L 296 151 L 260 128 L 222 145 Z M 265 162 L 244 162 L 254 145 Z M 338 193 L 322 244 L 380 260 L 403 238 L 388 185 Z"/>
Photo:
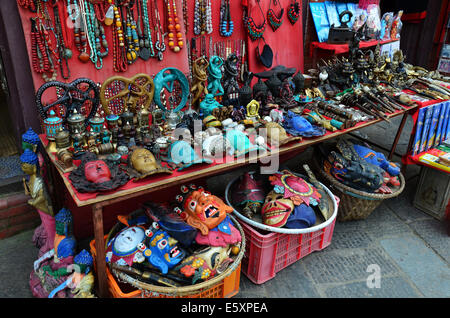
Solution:
<path fill-rule="evenodd" d="M 360 132 L 389 148 L 386 136 L 392 142 L 398 122 Z M 407 145 L 410 125 L 399 143 L 400 153 Z M 286 164 L 297 170 L 310 155 L 306 151 Z M 240 173 L 211 178 L 211 192 L 223 194 L 228 181 Z M 365 220 L 336 222 L 331 244 L 324 250 L 307 255 L 261 285 L 241 275 L 235 298 L 449 298 L 450 237 L 443 222 L 412 206 L 418 174 L 419 167 L 408 167 L 404 192 L 384 201 Z M 32 297 L 28 277 L 37 256 L 32 235 L 28 231 L 0 240 L 1 298 Z M 371 279 L 374 273 L 379 273 L 379 280 Z"/>

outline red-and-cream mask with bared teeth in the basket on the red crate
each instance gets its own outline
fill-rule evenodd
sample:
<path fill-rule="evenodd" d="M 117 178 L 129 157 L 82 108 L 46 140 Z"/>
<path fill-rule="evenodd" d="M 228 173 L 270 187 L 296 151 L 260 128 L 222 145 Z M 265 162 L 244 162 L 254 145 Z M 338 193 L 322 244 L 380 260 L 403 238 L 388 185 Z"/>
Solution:
<path fill-rule="evenodd" d="M 294 202 L 292 200 L 284 198 L 283 194 L 271 191 L 261 210 L 263 223 L 273 227 L 282 227 L 293 210 Z"/>

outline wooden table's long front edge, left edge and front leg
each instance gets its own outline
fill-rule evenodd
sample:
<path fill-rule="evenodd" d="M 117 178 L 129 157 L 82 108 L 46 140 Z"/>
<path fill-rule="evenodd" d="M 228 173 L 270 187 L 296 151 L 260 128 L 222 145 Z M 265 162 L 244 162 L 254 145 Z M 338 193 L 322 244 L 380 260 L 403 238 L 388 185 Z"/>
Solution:
<path fill-rule="evenodd" d="M 397 111 L 393 114 L 389 114 L 389 118 L 393 118 L 399 115 L 407 116 L 409 112 L 414 111 L 414 109 L 417 108 L 417 106 L 409 107 L 407 110 Z M 55 180 L 55 177 L 59 175 L 59 180 L 63 181 L 64 184 L 64 191 L 68 191 L 72 199 L 74 200 L 77 207 L 86 207 L 91 206 L 92 208 L 92 221 L 94 225 L 94 238 L 95 238 L 95 248 L 97 252 L 96 257 L 96 267 L 97 267 L 97 280 L 98 280 L 98 295 L 100 297 L 107 297 L 108 296 L 108 284 L 107 284 L 107 277 L 106 277 L 106 260 L 105 260 L 105 240 L 104 240 L 104 228 L 103 228 L 103 208 L 105 206 L 115 204 L 124 200 L 130 200 L 133 198 L 136 198 L 138 196 L 142 196 L 145 194 L 149 194 L 155 191 L 159 191 L 168 187 L 172 187 L 175 185 L 181 185 L 186 184 L 188 182 L 192 182 L 193 180 L 197 180 L 200 178 L 213 176 L 213 175 L 219 175 L 222 173 L 225 173 L 227 171 L 234 170 L 236 168 L 245 166 L 249 163 L 254 162 L 264 162 L 264 160 L 270 159 L 271 156 L 282 156 L 289 153 L 296 153 L 304 150 L 305 148 L 324 142 L 326 140 L 330 140 L 332 138 L 339 137 L 341 135 L 347 134 L 349 132 L 371 126 L 374 124 L 377 124 L 381 122 L 381 119 L 372 120 L 368 122 L 362 122 L 357 124 L 354 127 L 345 129 L 345 130 L 338 130 L 335 132 L 327 132 L 327 134 L 316 137 L 316 138 L 305 138 L 300 142 L 292 142 L 290 144 L 287 144 L 279 149 L 272 150 L 270 152 L 267 152 L 265 154 L 259 154 L 255 156 L 251 156 L 248 158 L 245 158 L 243 160 L 235 160 L 232 162 L 225 162 L 223 164 L 215 164 L 215 165 L 205 165 L 201 169 L 196 170 L 189 170 L 185 173 L 182 173 L 180 175 L 177 175 L 176 177 L 173 176 L 166 176 L 162 179 L 160 178 L 158 181 L 154 181 L 152 177 L 150 177 L 145 184 L 131 188 L 131 189 L 125 189 L 125 190 L 118 190 L 112 194 L 107 195 L 98 195 L 95 198 L 91 198 L 88 200 L 80 200 L 77 195 L 76 191 L 74 190 L 70 180 L 68 179 L 67 175 L 61 171 L 57 165 L 56 165 L 56 157 L 53 153 L 46 153 L 46 160 L 52 165 L 52 171 L 57 171 L 53 175 L 53 180 Z M 397 135 L 399 136 L 401 134 L 401 130 L 403 129 L 403 125 L 399 127 L 399 131 Z M 44 145 L 47 144 L 47 140 L 45 138 L 45 135 L 40 135 L 41 141 Z M 398 138 L 395 138 L 395 142 L 392 145 L 393 152 L 395 150 L 395 147 L 397 146 Z M 56 175 L 56 176 L 55 176 Z M 152 181 L 153 179 L 153 181 Z M 76 211 L 73 211 L 76 213 Z"/>

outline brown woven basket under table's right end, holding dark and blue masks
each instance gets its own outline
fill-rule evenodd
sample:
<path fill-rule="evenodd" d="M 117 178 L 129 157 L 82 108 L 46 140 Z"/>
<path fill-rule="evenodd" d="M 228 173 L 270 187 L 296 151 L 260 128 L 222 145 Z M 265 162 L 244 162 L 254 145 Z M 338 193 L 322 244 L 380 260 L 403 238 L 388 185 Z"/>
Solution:
<path fill-rule="evenodd" d="M 352 221 L 367 218 L 383 200 L 394 198 L 403 192 L 405 188 L 405 178 L 400 173 L 400 186 L 395 187 L 392 193 L 370 193 L 353 189 L 337 181 L 333 176 L 326 173 L 318 164 L 313 165 L 319 172 L 319 178 L 330 190 L 340 198 L 339 209 L 336 220 Z"/>

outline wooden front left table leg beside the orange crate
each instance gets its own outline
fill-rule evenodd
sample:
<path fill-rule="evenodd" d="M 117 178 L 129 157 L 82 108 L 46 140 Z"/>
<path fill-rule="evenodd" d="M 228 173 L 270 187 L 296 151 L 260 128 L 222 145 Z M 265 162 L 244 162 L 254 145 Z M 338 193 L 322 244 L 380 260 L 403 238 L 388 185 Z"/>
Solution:
<path fill-rule="evenodd" d="M 95 204 L 92 207 L 92 219 L 94 224 L 98 296 L 106 298 L 109 296 L 109 293 L 106 277 L 105 239 L 103 237 L 103 208 L 101 205 Z"/>

